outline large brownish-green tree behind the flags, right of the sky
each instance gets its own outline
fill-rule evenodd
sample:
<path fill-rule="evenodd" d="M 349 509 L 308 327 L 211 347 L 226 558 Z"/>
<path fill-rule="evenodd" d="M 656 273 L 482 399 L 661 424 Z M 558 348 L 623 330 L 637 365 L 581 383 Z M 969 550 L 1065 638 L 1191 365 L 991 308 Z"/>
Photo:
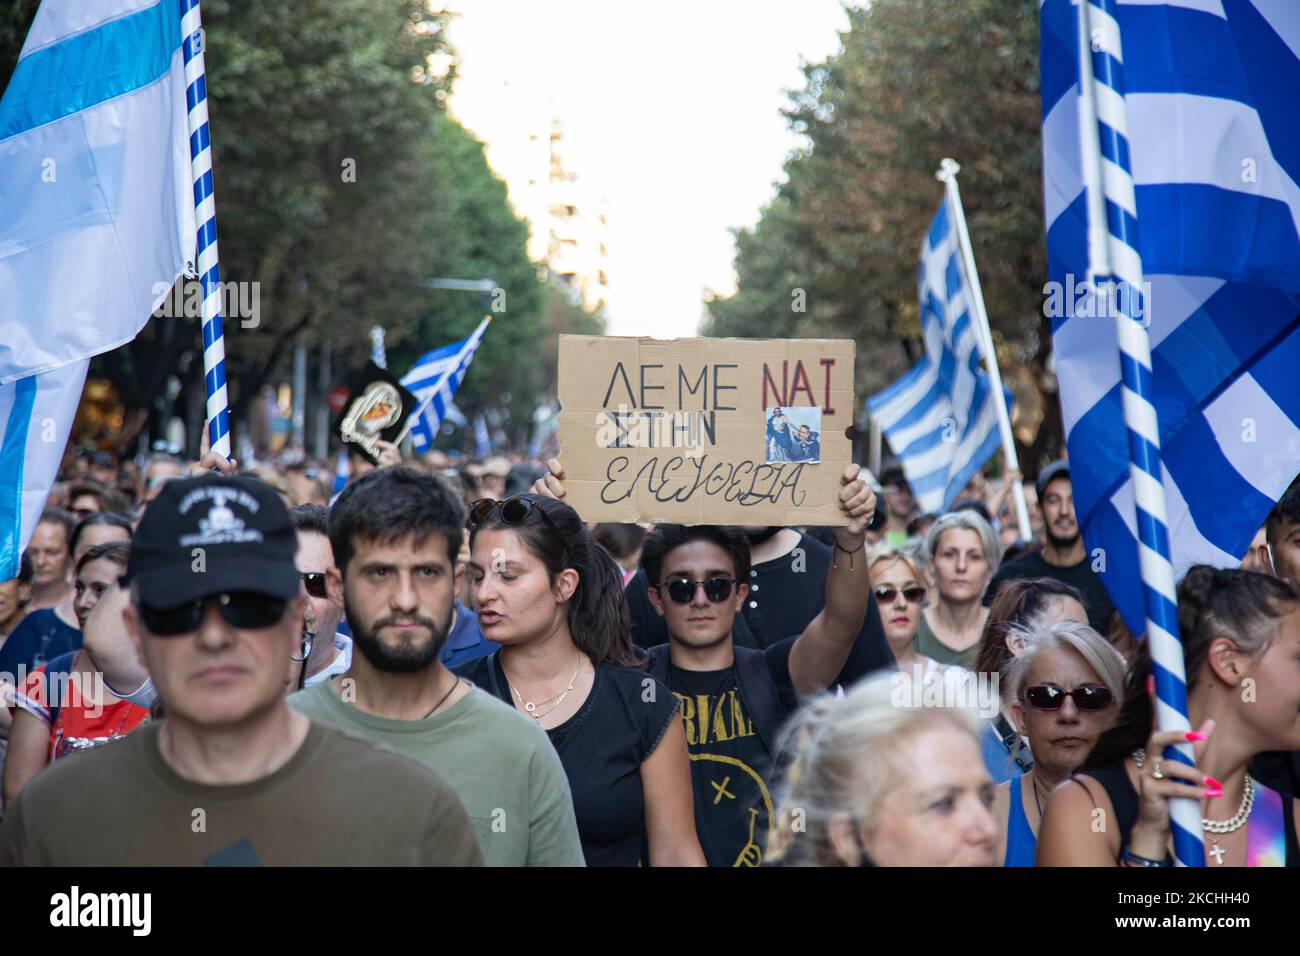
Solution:
<path fill-rule="evenodd" d="M 942 195 L 933 173 L 952 156 L 1002 365 L 1019 388 L 1050 381 L 1037 4 L 875 0 L 848 13 L 841 49 L 792 95 L 805 147 L 737 234 L 737 293 L 708 304 L 707 332 L 850 337 L 859 395 L 896 378 L 922 352 L 916 260 Z M 1044 424 L 1027 463 L 1060 446 L 1054 403 Z"/>

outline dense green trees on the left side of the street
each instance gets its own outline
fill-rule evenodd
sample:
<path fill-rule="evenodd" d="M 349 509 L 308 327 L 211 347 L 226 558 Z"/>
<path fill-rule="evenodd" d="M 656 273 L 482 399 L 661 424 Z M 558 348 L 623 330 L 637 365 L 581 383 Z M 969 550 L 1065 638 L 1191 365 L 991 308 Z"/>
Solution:
<path fill-rule="evenodd" d="M 36 5 L 0 5 L 0 77 Z M 552 308 L 545 271 L 525 252 L 526 222 L 482 146 L 446 112 L 448 14 L 422 0 L 205 0 L 203 17 L 222 281 L 256 284 L 260 307 L 256 323 L 225 321 L 235 418 L 287 376 L 295 345 L 329 342 L 343 384 L 369 354 L 368 329 L 382 325 L 400 375 L 490 311 L 458 403 L 498 407 L 520 440 L 551 388 L 537 342 L 555 334 L 551 323 L 599 323 Z M 434 277 L 491 278 L 499 291 L 422 285 Z M 198 319 L 155 317 L 92 375 L 127 410 L 152 414 L 173 375 L 202 392 L 200 369 Z"/>

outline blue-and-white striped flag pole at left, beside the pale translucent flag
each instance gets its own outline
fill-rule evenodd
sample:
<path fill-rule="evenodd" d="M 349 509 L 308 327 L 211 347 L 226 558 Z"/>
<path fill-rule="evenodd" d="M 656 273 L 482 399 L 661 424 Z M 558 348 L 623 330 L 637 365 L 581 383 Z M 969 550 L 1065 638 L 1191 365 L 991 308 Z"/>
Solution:
<path fill-rule="evenodd" d="M 208 83 L 203 66 L 199 0 L 178 0 L 185 57 L 185 98 L 190 122 L 190 176 L 194 179 L 195 258 L 203 290 L 203 390 L 208 398 L 208 446 L 230 458 L 226 403 L 226 343 L 221 328 L 221 268 L 217 264 L 217 204 L 212 189 Z"/>

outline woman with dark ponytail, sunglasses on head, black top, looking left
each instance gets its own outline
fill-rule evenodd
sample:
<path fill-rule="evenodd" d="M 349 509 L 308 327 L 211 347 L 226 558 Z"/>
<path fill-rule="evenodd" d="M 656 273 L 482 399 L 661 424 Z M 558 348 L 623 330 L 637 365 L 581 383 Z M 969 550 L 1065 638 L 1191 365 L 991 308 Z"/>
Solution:
<path fill-rule="evenodd" d="M 677 698 L 638 667 L 618 563 L 542 496 L 484 498 L 468 524 L 473 607 L 502 646 L 455 671 L 547 732 L 588 866 L 703 866 Z"/>

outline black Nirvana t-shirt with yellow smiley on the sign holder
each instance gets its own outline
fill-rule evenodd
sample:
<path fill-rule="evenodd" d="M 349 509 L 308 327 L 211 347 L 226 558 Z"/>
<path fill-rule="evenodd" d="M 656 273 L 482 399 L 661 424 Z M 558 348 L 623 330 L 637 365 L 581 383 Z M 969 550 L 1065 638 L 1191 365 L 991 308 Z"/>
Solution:
<path fill-rule="evenodd" d="M 798 635 L 763 652 L 776 685 L 777 724 L 798 706 L 790 682 L 790 648 Z M 650 649 L 653 657 L 668 645 Z M 681 701 L 696 796 L 696 834 L 710 866 L 758 866 L 776 827 L 772 754 L 745 710 L 736 667 L 688 671 L 670 667 L 668 687 Z"/>

